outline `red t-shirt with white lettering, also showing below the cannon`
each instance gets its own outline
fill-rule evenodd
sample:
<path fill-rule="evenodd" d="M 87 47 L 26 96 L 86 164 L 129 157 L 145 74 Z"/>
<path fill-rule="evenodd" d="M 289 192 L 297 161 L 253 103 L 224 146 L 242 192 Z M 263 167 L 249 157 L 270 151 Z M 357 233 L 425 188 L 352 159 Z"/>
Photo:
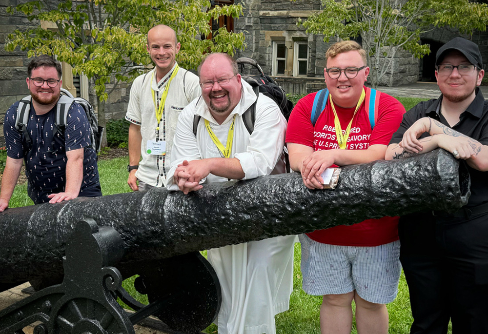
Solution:
<path fill-rule="evenodd" d="M 314 151 L 339 148 L 330 101 L 317 119 L 315 127 L 310 121 L 316 94 L 308 94 L 293 108 L 288 120 L 286 142 L 313 147 Z M 335 107 L 341 128 L 345 132 L 356 108 L 341 108 L 337 105 Z M 405 108 L 397 99 L 381 93 L 376 112 L 378 118 L 371 131 L 369 115 L 363 102 L 352 121 L 351 132 L 347 138 L 347 150 L 366 150 L 369 145 L 376 144 L 388 145 L 393 133 L 400 126 Z M 331 245 L 379 246 L 398 240 L 398 217 L 367 219 L 351 226 L 339 225 L 326 230 L 317 230 L 307 233 L 307 236 Z"/>

